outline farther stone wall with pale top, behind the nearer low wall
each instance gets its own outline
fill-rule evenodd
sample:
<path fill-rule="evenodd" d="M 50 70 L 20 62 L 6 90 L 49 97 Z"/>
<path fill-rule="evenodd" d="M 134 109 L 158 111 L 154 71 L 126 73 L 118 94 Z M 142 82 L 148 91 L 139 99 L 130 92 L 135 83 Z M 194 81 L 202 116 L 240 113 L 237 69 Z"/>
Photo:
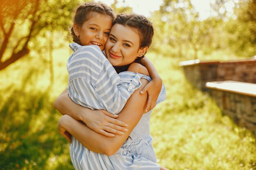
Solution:
<path fill-rule="evenodd" d="M 207 82 L 234 80 L 256 84 L 256 56 L 243 61 L 201 62 L 190 60 L 180 62 L 186 78 L 193 86 L 208 91 Z"/>

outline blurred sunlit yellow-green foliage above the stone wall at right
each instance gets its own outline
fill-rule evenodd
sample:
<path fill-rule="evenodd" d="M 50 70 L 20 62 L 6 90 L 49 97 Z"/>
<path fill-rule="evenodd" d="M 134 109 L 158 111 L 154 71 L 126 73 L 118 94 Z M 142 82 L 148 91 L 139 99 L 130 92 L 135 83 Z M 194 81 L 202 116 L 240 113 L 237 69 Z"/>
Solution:
<path fill-rule="evenodd" d="M 228 9 L 233 4 L 234 13 Z M 212 15 L 202 20 L 190 0 L 164 0 L 151 20 L 155 26 L 155 49 L 170 57 L 199 58 L 200 52 L 229 50 L 230 54 L 256 54 L 255 0 L 211 1 Z M 167 49 L 163 49 L 163 46 Z M 193 50 L 188 56 L 187 51 Z"/>

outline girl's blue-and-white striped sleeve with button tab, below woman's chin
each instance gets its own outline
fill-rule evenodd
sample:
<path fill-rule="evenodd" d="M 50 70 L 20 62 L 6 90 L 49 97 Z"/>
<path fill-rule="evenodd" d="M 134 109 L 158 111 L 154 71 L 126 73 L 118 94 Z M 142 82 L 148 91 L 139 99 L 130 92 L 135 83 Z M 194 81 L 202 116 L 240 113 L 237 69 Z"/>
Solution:
<path fill-rule="evenodd" d="M 117 74 L 108 60 L 103 64 L 96 84 L 96 91 L 108 107 L 107 111 L 118 114 L 132 93 L 141 86 L 141 75 L 133 72 Z"/>

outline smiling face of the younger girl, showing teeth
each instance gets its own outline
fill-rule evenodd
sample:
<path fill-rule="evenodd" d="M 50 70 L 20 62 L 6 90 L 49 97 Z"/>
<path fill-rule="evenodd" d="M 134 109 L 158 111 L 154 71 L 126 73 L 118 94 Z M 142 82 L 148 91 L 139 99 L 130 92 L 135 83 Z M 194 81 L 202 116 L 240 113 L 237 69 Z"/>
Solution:
<path fill-rule="evenodd" d="M 74 33 L 79 36 L 81 45 L 97 45 L 104 50 L 112 26 L 112 18 L 97 12 L 90 12 L 90 19 L 82 26 L 73 25 Z"/>

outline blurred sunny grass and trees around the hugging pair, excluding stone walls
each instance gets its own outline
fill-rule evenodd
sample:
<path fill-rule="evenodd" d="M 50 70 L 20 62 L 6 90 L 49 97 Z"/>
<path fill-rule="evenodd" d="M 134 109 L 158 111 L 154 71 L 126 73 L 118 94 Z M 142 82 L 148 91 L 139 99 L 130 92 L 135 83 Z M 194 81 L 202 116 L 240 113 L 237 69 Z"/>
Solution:
<path fill-rule="evenodd" d="M 0 170 L 74 170 L 53 102 L 67 86 L 69 28 L 83 2 L 89 1 L 0 2 Z M 252 131 L 222 115 L 178 65 L 256 55 L 256 0 L 105 3 L 116 13 L 144 14 L 154 24 L 147 57 L 167 87 L 150 122 L 158 163 L 172 170 L 256 170 Z"/>

